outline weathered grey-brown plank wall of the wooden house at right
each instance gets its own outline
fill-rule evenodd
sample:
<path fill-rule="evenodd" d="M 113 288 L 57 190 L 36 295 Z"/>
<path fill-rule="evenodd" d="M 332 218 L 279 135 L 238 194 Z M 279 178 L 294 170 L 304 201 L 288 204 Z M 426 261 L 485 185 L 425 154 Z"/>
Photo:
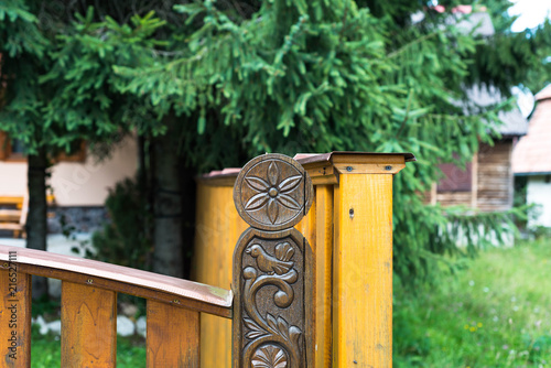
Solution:
<path fill-rule="evenodd" d="M 478 152 L 476 206 L 483 212 L 512 207 L 512 140 L 501 140 L 489 147 L 480 144 Z"/>

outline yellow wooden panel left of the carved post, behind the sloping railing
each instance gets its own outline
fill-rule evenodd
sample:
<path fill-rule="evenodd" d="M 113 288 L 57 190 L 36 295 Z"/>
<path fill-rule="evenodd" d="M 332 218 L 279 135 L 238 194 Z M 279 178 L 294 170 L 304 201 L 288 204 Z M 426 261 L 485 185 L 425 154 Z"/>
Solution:
<path fill-rule="evenodd" d="M 214 286 L 231 285 L 231 256 L 248 225 L 234 205 L 233 187 L 197 185 L 193 279 Z M 231 321 L 201 316 L 201 366 L 231 367 Z"/>

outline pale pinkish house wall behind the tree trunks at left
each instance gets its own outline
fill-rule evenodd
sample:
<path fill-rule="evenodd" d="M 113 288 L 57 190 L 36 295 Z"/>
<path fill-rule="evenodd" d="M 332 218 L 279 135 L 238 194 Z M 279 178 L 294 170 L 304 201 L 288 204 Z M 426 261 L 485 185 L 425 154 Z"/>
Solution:
<path fill-rule="evenodd" d="M 90 154 L 86 162 L 61 162 L 51 169 L 50 185 L 58 206 L 102 206 L 108 190 L 138 169 L 134 138 L 127 138 L 108 160 L 96 163 Z M 0 196 L 26 193 L 26 162 L 0 161 Z"/>

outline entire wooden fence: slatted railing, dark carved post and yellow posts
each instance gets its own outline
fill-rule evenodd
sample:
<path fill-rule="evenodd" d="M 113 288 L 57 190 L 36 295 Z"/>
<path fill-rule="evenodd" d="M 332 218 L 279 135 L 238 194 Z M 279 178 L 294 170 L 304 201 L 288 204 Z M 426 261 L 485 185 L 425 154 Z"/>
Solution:
<path fill-rule="evenodd" d="M 62 367 L 116 366 L 117 293 L 147 299 L 148 367 L 391 367 L 392 175 L 414 158 L 296 159 L 199 180 L 202 283 L 0 246 L 0 366 L 31 366 L 40 275 L 62 280 Z"/>

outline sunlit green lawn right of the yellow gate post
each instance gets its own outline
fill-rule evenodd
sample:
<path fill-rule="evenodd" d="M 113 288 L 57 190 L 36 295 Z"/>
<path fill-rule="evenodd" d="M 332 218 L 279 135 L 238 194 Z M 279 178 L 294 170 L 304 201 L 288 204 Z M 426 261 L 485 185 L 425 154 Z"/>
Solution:
<path fill-rule="evenodd" d="M 395 291 L 395 367 L 551 367 L 551 241 L 482 252 L 437 289 Z"/>

